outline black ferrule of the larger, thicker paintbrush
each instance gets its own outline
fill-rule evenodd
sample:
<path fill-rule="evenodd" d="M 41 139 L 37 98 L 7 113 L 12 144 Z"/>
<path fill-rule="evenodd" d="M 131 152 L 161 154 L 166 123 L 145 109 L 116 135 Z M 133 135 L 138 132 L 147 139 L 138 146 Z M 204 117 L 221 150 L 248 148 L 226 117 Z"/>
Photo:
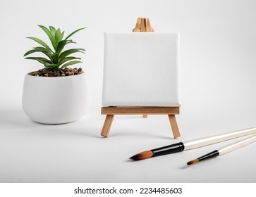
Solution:
<path fill-rule="evenodd" d="M 152 149 L 151 151 L 153 152 L 153 157 L 155 156 L 160 156 L 160 155 L 168 155 L 172 153 L 178 153 L 181 151 L 184 151 L 184 144 L 183 142 L 179 142 L 176 144 L 171 144 L 169 146 L 163 146 L 161 148 L 155 148 Z"/>

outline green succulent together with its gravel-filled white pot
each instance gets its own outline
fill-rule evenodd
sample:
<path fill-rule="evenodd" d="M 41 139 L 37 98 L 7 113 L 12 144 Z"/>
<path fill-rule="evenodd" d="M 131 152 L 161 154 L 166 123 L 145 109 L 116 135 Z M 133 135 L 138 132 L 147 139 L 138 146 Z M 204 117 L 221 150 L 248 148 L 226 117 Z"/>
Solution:
<path fill-rule="evenodd" d="M 49 37 L 52 48 L 42 39 L 28 37 L 40 46 L 25 53 L 25 59 L 42 63 L 44 68 L 25 75 L 23 84 L 23 110 L 35 122 L 62 124 L 83 117 L 90 105 L 87 77 L 82 68 L 68 68 L 81 63 L 73 53 L 85 53 L 85 49 L 67 49 L 67 44 L 75 44 L 70 39 L 75 30 L 63 39 L 64 31 L 54 27 L 38 25 Z M 41 56 L 31 56 L 30 54 Z M 28 56 L 30 55 L 30 56 Z"/>

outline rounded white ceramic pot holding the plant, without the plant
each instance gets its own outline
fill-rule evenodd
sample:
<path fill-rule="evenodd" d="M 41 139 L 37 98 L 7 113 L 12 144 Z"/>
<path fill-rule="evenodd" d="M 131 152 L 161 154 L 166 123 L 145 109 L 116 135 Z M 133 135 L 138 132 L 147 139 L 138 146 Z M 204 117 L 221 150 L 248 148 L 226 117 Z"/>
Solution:
<path fill-rule="evenodd" d="M 22 106 L 35 122 L 62 124 L 78 120 L 90 106 L 85 72 L 66 77 L 25 75 Z"/>

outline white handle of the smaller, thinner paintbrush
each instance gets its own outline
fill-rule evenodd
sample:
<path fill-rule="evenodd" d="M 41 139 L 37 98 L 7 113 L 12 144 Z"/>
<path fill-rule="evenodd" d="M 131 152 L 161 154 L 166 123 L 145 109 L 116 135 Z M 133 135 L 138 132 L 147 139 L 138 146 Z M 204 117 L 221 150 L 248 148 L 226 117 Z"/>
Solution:
<path fill-rule="evenodd" d="M 247 146 L 248 144 L 251 144 L 256 141 L 256 135 L 252 135 L 246 139 L 236 141 L 233 144 L 229 144 L 227 146 L 224 146 L 222 148 L 219 148 L 219 155 L 224 155 L 226 153 L 230 153 L 231 151 L 236 151 L 238 148 L 242 148 L 243 146 Z"/>

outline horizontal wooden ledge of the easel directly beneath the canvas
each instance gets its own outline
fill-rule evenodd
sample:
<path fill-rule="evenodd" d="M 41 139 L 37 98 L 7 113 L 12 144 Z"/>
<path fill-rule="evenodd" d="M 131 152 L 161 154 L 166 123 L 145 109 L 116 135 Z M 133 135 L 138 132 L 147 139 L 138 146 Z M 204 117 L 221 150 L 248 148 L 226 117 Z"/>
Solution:
<path fill-rule="evenodd" d="M 103 115 L 169 115 L 179 113 L 179 107 L 102 107 Z"/>

